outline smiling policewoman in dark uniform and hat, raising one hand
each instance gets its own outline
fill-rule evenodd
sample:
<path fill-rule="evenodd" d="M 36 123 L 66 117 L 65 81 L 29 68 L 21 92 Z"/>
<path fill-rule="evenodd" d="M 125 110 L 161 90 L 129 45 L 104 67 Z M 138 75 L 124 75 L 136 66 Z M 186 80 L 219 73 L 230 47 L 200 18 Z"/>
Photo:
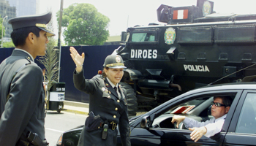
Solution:
<path fill-rule="evenodd" d="M 108 55 L 102 76 L 96 75 L 88 80 L 83 76 L 84 53 L 79 55 L 74 47 L 70 47 L 70 53 L 76 65 L 73 76 L 75 88 L 89 94 L 89 117 L 86 118 L 78 146 L 116 145 L 117 126 L 122 145 L 131 145 L 127 93 L 118 85 L 126 68 L 123 59 L 120 55 Z"/>

